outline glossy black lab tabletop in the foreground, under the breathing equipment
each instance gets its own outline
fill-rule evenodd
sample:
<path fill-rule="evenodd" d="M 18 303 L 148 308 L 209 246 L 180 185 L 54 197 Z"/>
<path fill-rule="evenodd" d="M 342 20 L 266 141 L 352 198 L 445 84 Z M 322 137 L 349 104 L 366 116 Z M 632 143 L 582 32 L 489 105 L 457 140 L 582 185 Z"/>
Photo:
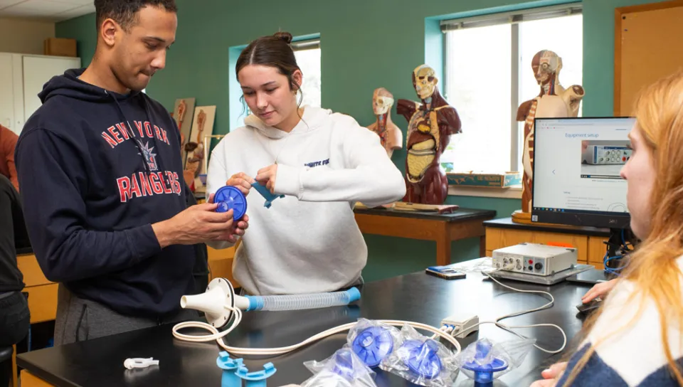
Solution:
<path fill-rule="evenodd" d="M 562 282 L 551 287 L 507 281 L 508 285 L 524 290 L 546 290 L 556 299 L 554 307 L 507 320 L 510 325 L 534 323 L 558 324 L 571 339 L 581 329 L 575 305 L 588 290 L 582 286 Z M 332 307 L 292 312 L 245 312 L 243 321 L 226 341 L 232 346 L 250 348 L 287 346 L 296 344 L 324 329 L 354 322 L 359 317 L 369 319 L 401 319 L 439 326 L 441 319 L 457 312 L 478 314 L 482 321 L 523 309 L 539 307 L 546 300 L 539 295 L 521 294 L 505 289 L 481 275 L 468 274 L 464 280 L 442 280 L 423 272 L 369 282 L 361 290 L 362 297 L 349 307 Z M 562 337 L 553 328 L 524 329 L 546 349 L 561 346 Z M 191 330 L 190 330 L 191 332 Z M 208 333 L 208 332 L 207 332 Z M 494 341 L 513 339 L 493 324 L 483 325 L 479 332 L 459 339 L 462 348 L 477 338 Z M 318 341 L 294 353 L 267 359 L 250 358 L 245 361 L 250 371 L 263 369 L 271 361 L 277 372 L 268 379 L 268 386 L 301 383 L 312 376 L 303 363 L 323 360 L 340 349 L 346 334 L 337 334 Z M 568 344 L 568 348 L 571 348 Z M 137 332 L 92 339 L 80 343 L 31 351 L 17 357 L 18 366 L 56 386 L 221 386 L 221 369 L 216 366 L 219 347 L 215 341 L 189 343 L 174 339 L 171 325 L 162 325 Z M 539 378 L 549 364 L 561 354 L 549 355 L 531 349 L 518 369 L 502 376 L 503 386 L 529 386 Z M 153 357 L 159 366 L 149 369 L 127 370 L 127 358 Z M 376 369 L 376 383 L 383 386 L 411 386 L 404 379 Z M 460 373 L 456 381 L 469 383 Z"/>

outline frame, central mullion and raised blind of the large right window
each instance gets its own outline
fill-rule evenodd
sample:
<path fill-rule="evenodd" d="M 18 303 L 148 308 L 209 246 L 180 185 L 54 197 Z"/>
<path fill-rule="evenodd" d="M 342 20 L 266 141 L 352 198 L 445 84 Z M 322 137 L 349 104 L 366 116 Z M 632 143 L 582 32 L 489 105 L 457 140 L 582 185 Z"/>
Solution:
<path fill-rule="evenodd" d="M 440 22 L 441 32 L 443 38 L 443 65 L 444 69 L 448 69 L 448 48 L 449 36 L 448 32 L 462 30 L 464 28 L 478 28 L 487 26 L 498 26 L 501 24 L 510 24 L 511 27 L 511 55 L 510 55 L 510 71 L 511 71 L 511 85 L 510 85 L 510 157 L 509 157 L 509 171 L 517 171 L 521 160 L 521 135 L 519 130 L 519 122 L 517 122 L 517 107 L 519 107 L 519 23 L 524 21 L 534 21 L 548 18 L 558 18 L 564 16 L 583 15 L 583 4 L 568 3 L 557 6 L 544 6 L 532 9 L 521 9 L 519 11 L 500 12 L 496 14 L 486 14 L 481 16 L 470 16 L 466 18 L 452 18 L 445 19 Z M 583 43 L 582 43 L 583 44 Z M 583 71 L 583 69 L 582 69 Z M 443 72 L 444 92 L 448 90 L 445 85 L 448 84 L 448 70 Z M 448 100 L 448 93 L 445 93 L 445 98 Z"/>

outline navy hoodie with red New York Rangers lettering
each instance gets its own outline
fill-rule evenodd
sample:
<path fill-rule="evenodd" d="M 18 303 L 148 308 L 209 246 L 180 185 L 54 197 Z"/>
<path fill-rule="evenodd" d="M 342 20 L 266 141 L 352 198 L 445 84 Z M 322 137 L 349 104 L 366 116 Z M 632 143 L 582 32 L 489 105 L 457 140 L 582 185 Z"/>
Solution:
<path fill-rule="evenodd" d="M 52 78 L 16 144 L 33 251 L 48 280 L 121 314 L 163 317 L 194 280 L 191 245 L 159 246 L 152 223 L 186 208 L 180 133 L 159 102 Z"/>

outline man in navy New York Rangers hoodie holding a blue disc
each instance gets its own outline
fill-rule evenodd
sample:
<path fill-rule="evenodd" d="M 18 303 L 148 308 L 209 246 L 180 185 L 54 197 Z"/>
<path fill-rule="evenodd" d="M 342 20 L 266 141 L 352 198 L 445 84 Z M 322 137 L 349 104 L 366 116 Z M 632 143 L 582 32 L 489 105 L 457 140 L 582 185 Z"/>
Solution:
<path fill-rule="evenodd" d="M 95 9 L 92 63 L 46 83 L 16 146 L 31 244 L 60 282 L 55 344 L 196 318 L 179 307 L 194 292 L 192 245 L 234 242 L 248 221 L 186 206 L 180 132 L 140 92 L 174 42 L 174 0 Z"/>

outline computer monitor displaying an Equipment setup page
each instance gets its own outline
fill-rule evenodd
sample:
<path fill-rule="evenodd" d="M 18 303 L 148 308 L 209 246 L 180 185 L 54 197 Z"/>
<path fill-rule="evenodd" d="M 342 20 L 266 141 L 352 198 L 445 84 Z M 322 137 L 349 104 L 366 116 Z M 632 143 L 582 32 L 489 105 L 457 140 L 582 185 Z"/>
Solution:
<path fill-rule="evenodd" d="M 626 181 L 635 118 L 537 118 L 531 221 L 627 228 Z"/>

